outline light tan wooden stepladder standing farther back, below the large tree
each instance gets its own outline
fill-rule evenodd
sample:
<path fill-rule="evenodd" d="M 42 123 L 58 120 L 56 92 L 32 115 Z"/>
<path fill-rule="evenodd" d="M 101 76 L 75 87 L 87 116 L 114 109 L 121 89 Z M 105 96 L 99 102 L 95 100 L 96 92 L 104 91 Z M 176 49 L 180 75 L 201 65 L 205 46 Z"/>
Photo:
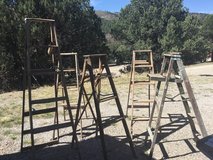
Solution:
<path fill-rule="evenodd" d="M 143 72 L 136 76 L 136 70 Z M 144 74 L 145 73 L 145 74 Z M 151 50 L 134 50 L 132 54 L 132 64 L 130 73 L 129 92 L 127 98 L 127 110 L 126 115 L 128 116 L 128 110 L 131 109 L 131 125 L 130 131 L 133 136 L 133 124 L 138 119 L 134 115 L 134 109 L 147 108 L 148 120 L 150 116 L 150 108 L 153 103 L 153 97 L 151 97 L 151 86 L 154 89 L 154 82 L 150 80 L 148 74 L 154 73 L 153 58 Z M 142 93 L 146 92 L 146 93 Z M 139 92 L 139 93 L 138 93 Z M 152 95 L 154 96 L 154 95 Z"/>

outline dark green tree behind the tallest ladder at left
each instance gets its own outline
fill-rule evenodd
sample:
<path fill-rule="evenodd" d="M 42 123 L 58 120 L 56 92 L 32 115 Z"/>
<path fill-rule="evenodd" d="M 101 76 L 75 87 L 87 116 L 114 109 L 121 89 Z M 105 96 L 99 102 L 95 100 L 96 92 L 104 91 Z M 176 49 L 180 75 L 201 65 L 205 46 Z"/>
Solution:
<path fill-rule="evenodd" d="M 81 59 L 84 54 L 107 53 L 101 19 L 89 0 L 0 0 L 0 90 L 21 86 L 26 17 L 55 19 L 61 52 L 78 52 Z M 46 44 L 45 26 L 32 27 L 33 43 Z M 39 66 L 47 56 L 36 49 L 32 59 L 39 63 L 32 64 Z"/>

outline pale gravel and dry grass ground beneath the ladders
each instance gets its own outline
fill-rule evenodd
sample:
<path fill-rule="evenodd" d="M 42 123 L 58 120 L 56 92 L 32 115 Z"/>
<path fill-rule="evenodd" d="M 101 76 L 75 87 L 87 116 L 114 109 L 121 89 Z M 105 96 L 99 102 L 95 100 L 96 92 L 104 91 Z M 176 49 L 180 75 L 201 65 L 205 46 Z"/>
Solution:
<path fill-rule="evenodd" d="M 129 74 L 121 74 L 120 69 L 125 66 L 111 67 L 110 70 L 115 76 L 114 81 L 119 94 L 124 113 L 126 113 L 127 94 L 128 94 L 128 79 Z M 186 67 L 186 72 L 189 76 L 205 127 L 209 135 L 213 134 L 212 113 L 213 113 L 213 63 L 203 63 Z M 122 81 L 123 80 L 123 81 Z M 45 88 L 43 88 L 45 89 Z M 176 95 L 176 86 L 169 86 L 168 95 Z M 1 125 L 0 126 L 0 160 L 102 160 L 102 149 L 100 139 L 96 138 L 95 124 L 90 111 L 88 117 L 83 118 L 83 138 L 80 135 L 78 127 L 79 149 L 70 146 L 72 136 L 71 128 L 62 129 L 60 131 L 60 143 L 55 146 L 46 147 L 35 151 L 20 153 L 20 116 L 22 104 L 22 92 L 10 92 L 0 95 L 0 119 L 3 123 L 2 112 L 6 107 L 18 107 L 19 118 L 10 119 L 10 122 L 16 125 Z M 178 99 L 177 99 L 178 100 Z M 180 98 L 179 98 L 180 100 Z M 14 108 L 15 110 L 15 108 Z M 125 132 L 122 123 L 119 119 L 119 114 L 115 102 L 107 101 L 100 106 L 105 141 L 107 148 L 107 156 L 109 160 L 133 160 L 133 159 L 148 159 L 146 153 L 150 147 L 150 142 L 144 144 L 146 128 L 148 121 L 136 121 L 134 130 L 134 145 L 137 158 L 133 158 L 129 145 L 125 139 Z M 62 111 L 61 111 L 62 112 Z M 147 109 L 134 110 L 135 115 L 147 117 Z M 11 112 L 8 112 L 11 114 Z M 75 115 L 75 113 L 74 113 Z M 13 116 L 12 116 L 13 117 Z M 4 120 L 6 119 L 3 117 Z M 47 120 L 48 119 L 48 120 Z M 7 120 L 7 119 L 6 119 Z M 5 121 L 6 121 L 5 120 Z M 52 119 L 51 119 L 52 120 Z M 63 121 L 63 116 L 60 119 Z M 126 118 L 130 126 L 130 118 Z M 45 124 L 48 118 L 40 118 L 36 125 Z M 8 122 L 8 121 L 7 121 Z M 193 141 L 193 136 L 190 130 L 189 123 L 186 119 L 183 104 L 175 102 L 165 103 L 162 115 L 162 132 L 158 136 L 158 143 L 155 147 L 154 159 L 177 159 L 177 160 L 205 160 L 208 159 L 197 147 Z M 199 128 L 198 128 L 199 131 Z M 52 132 L 36 137 L 36 143 L 48 141 L 52 137 Z M 28 137 L 29 138 L 29 137 Z M 29 140 L 24 141 L 27 144 Z M 79 154 L 80 152 L 80 154 Z M 80 156 L 79 156 L 80 155 Z"/>

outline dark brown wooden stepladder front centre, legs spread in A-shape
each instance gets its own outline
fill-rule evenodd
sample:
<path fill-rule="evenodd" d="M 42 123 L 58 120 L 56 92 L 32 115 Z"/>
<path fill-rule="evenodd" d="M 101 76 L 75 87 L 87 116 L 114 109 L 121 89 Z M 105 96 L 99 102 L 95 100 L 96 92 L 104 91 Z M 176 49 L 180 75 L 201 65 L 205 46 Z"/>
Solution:
<path fill-rule="evenodd" d="M 98 70 L 96 73 L 94 73 L 95 65 L 98 65 Z M 106 71 L 104 74 L 103 71 Z M 102 78 L 107 78 L 109 80 L 110 88 L 112 93 L 110 94 L 101 94 L 101 79 Z M 114 99 L 117 108 L 119 111 L 120 119 L 123 123 L 123 127 L 131 148 L 131 151 L 133 155 L 135 155 L 133 143 L 130 137 L 130 133 L 128 130 L 128 126 L 123 114 L 123 110 L 121 107 L 121 103 L 115 88 L 115 84 L 112 79 L 111 72 L 109 70 L 109 66 L 107 63 L 107 56 L 105 54 L 96 54 L 96 55 L 85 55 L 84 56 L 84 66 L 83 66 L 83 72 L 82 72 L 82 79 L 81 79 L 81 84 L 80 84 L 80 92 L 79 92 L 79 99 L 78 99 L 78 109 L 76 113 L 76 121 L 75 121 L 75 127 L 77 127 L 79 120 L 81 119 L 80 115 L 80 104 L 82 101 L 82 96 L 87 95 L 86 89 L 85 89 L 85 82 L 88 81 L 91 84 L 91 96 L 87 97 L 86 96 L 86 104 L 89 103 L 91 98 L 94 100 L 94 105 L 95 105 L 95 111 L 96 111 L 96 124 L 98 126 L 98 130 L 100 133 L 100 139 L 101 139 L 101 145 L 102 145 L 102 150 L 103 150 L 103 156 L 104 159 L 107 160 L 107 152 L 106 152 L 106 146 L 105 146 L 105 140 L 104 140 L 104 130 L 102 126 L 102 117 L 101 117 L 101 112 L 100 112 L 100 103 L 109 101 Z M 83 112 L 83 111 L 82 111 Z"/>

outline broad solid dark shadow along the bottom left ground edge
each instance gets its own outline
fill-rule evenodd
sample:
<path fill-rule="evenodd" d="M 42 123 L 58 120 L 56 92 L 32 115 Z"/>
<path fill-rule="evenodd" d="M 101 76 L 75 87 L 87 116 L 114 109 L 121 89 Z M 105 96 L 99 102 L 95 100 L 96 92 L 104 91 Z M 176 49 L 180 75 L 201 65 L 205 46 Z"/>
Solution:
<path fill-rule="evenodd" d="M 125 139 L 104 136 L 106 140 L 107 156 L 109 160 L 133 160 L 133 155 Z M 103 160 L 101 142 L 98 138 L 90 138 L 79 142 L 78 150 L 72 148 L 70 143 L 60 143 L 55 146 L 37 149 L 34 151 L 17 152 L 0 155 L 1 160 Z M 137 159 L 148 160 L 140 148 L 135 148 Z"/>

